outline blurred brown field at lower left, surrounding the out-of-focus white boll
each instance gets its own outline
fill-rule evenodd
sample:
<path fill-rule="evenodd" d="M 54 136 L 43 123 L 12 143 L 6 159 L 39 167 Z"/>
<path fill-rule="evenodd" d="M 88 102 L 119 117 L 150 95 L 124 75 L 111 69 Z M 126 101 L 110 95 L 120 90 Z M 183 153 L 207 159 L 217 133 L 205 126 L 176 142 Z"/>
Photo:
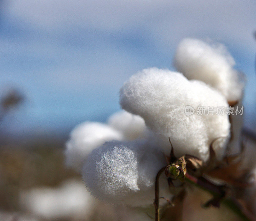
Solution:
<path fill-rule="evenodd" d="M 13 145 L 0 147 L 0 220 L 46 220 L 24 208 L 23 202 L 20 202 L 20 193 L 35 187 L 42 190 L 49 187 L 57 189 L 70 179 L 82 182 L 79 174 L 65 167 L 63 148 L 64 141 L 62 144 L 47 142 L 47 138 L 44 142 L 41 139 L 34 140 L 16 148 Z M 60 216 L 47 220 L 136 220 L 129 209 L 105 202 L 94 202 L 88 210 L 85 208 L 72 214 L 72 217 Z"/>

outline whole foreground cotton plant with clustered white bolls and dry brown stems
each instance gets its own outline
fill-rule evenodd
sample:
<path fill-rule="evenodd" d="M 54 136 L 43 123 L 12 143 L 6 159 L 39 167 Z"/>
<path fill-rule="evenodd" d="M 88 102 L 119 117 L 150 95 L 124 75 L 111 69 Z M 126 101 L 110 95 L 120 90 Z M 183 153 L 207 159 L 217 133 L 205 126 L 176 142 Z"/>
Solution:
<path fill-rule="evenodd" d="M 176 204 L 190 185 L 213 195 L 205 206 L 223 203 L 247 217 L 235 195 L 227 194 L 232 191 L 225 183 L 245 185 L 248 175 L 238 177 L 240 164 L 233 164 L 237 156 L 229 156 L 239 139 L 242 117 L 232 121 L 228 110 L 242 101 L 244 88 L 234 59 L 221 45 L 185 39 L 174 64 L 179 72 L 147 68 L 132 75 L 120 88 L 124 110 L 101 124 L 115 131 L 116 137 L 99 142 L 95 134 L 100 130 L 77 136 L 75 128 L 66 146 L 67 162 L 69 156 L 76 159 L 74 150 L 86 153 L 77 158 L 79 171 L 94 197 L 141 208 L 147 214 L 153 208 L 156 220 L 167 205 L 174 205 L 173 213 L 177 212 Z M 203 107 L 211 112 L 202 112 Z M 222 114 L 217 107 L 224 110 Z M 223 179 L 223 185 L 216 179 Z"/>

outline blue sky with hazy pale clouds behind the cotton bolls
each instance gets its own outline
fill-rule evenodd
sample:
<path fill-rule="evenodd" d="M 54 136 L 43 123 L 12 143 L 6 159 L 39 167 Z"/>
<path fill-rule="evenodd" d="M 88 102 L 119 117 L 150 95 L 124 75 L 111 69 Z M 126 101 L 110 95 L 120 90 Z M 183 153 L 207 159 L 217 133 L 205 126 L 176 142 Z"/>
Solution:
<path fill-rule="evenodd" d="M 255 129 L 255 1 L 4 1 L 0 89 L 27 98 L 7 133 L 67 133 L 119 110 L 118 90 L 147 67 L 174 70 L 185 37 L 224 43 L 247 76 L 245 124 Z M 1 92 L 1 90 L 0 90 Z"/>

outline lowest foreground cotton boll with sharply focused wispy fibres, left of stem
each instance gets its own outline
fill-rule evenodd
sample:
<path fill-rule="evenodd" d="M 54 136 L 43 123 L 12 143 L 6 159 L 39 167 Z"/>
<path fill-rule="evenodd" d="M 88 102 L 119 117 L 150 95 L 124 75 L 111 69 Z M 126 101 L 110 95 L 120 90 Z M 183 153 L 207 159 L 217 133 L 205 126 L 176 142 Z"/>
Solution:
<path fill-rule="evenodd" d="M 145 141 L 110 141 L 92 151 L 82 174 L 88 190 L 99 199 L 147 206 L 154 201 L 156 174 L 165 165 L 164 154 Z M 168 193 L 166 179 L 163 187 Z"/>

